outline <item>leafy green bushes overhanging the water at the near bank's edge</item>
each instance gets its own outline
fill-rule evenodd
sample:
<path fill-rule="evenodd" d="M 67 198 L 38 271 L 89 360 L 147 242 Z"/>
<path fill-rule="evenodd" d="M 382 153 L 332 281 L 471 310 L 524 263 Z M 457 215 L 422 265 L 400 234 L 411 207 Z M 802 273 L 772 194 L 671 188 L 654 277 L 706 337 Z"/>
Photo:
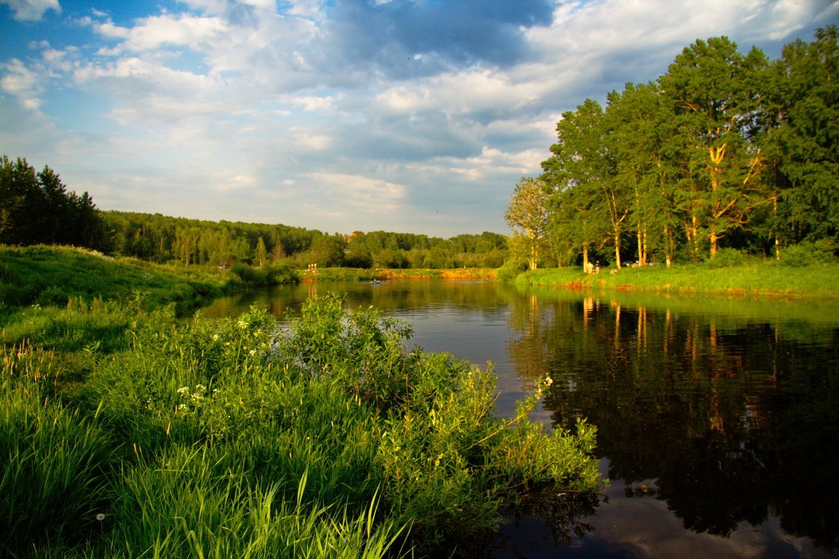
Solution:
<path fill-rule="evenodd" d="M 331 380 L 382 414 L 376 462 L 383 499 L 425 541 L 492 526 L 516 490 L 539 484 L 597 489 L 588 458 L 592 427 L 581 425 L 579 437 L 549 437 L 527 420 L 544 386 L 516 417 L 499 419 L 491 370 L 451 355 L 408 351 L 409 335 L 407 325 L 375 308 L 344 313 L 332 294 L 305 303 L 276 350 L 294 356 L 305 376 Z"/>

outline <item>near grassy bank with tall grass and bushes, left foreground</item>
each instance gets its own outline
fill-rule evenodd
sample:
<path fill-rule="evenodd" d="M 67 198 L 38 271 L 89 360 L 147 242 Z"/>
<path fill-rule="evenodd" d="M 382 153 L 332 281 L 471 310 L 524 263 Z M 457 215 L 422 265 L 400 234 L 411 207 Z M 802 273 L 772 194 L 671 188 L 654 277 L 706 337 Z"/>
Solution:
<path fill-rule="evenodd" d="M 525 492 L 599 488 L 593 427 L 527 420 L 549 380 L 500 419 L 491 370 L 406 352 L 376 309 L 183 320 L 79 255 L 107 293 L 0 313 L 0 555 L 420 557 Z"/>

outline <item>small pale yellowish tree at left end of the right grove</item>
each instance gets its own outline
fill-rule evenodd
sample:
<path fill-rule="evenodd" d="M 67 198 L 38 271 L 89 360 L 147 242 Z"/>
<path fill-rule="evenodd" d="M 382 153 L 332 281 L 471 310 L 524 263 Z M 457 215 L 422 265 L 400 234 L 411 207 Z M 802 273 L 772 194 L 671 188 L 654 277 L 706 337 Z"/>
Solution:
<path fill-rule="evenodd" d="M 535 270 L 539 266 L 539 255 L 548 230 L 545 183 L 529 177 L 519 180 L 504 213 L 504 220 L 513 230 L 513 241 L 510 244 L 513 254 L 524 257 L 530 269 Z"/>

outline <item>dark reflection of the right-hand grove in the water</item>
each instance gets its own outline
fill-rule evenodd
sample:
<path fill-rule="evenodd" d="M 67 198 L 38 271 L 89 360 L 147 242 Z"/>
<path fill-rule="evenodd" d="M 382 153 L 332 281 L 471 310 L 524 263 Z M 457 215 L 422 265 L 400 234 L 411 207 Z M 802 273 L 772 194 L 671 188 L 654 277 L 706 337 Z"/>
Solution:
<path fill-rule="evenodd" d="M 519 375 L 549 371 L 545 407 L 559 427 L 597 425 L 597 453 L 625 496 L 666 502 L 696 533 L 777 516 L 787 534 L 836 549 L 835 325 L 593 297 L 524 298 L 512 320 Z"/>

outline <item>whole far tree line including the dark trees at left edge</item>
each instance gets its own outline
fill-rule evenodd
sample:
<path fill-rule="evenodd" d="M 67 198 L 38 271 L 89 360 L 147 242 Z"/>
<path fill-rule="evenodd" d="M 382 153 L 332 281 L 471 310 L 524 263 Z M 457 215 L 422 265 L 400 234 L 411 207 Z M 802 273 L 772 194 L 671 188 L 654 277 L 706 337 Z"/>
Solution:
<path fill-rule="evenodd" d="M 289 225 L 190 220 L 160 214 L 102 211 L 89 194 L 68 192 L 49 167 L 3 156 L 0 244 L 73 245 L 159 263 L 262 267 L 499 267 L 507 237 L 484 232 L 449 239 L 373 231 L 328 234 Z"/>

